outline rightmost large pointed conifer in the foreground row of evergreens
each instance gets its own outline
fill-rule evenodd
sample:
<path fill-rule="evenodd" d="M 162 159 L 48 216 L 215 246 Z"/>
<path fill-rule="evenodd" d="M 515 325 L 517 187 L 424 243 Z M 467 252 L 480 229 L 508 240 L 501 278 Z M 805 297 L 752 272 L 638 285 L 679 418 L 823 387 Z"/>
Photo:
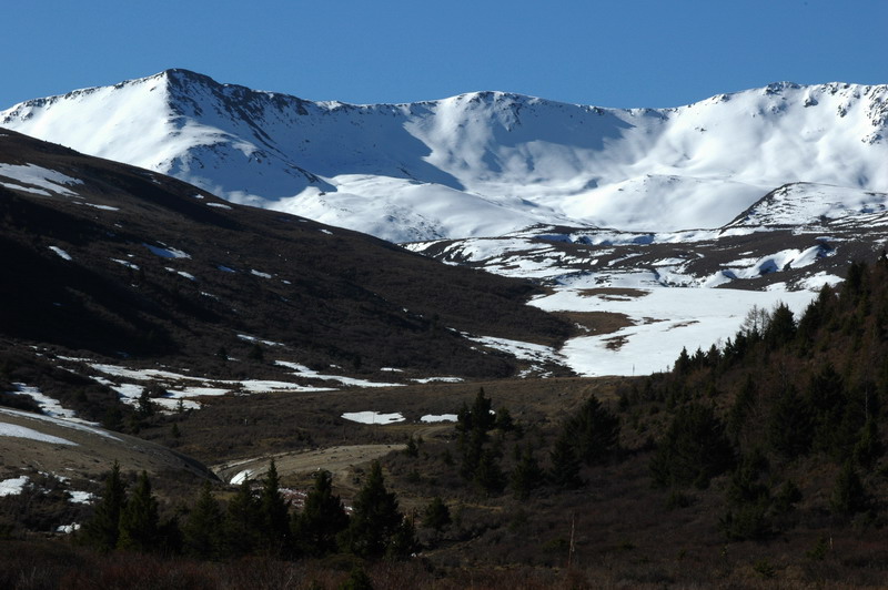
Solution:
<path fill-rule="evenodd" d="M 380 461 L 373 461 L 370 476 L 354 500 L 342 545 L 359 557 L 383 557 L 403 519 L 397 510 L 397 497 L 385 489 Z"/>

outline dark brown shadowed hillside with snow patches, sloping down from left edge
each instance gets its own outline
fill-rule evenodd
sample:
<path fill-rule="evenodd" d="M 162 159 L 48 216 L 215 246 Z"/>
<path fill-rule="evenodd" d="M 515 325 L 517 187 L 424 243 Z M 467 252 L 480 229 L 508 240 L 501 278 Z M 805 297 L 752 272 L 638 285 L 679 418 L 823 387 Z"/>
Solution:
<path fill-rule="evenodd" d="M 462 333 L 551 345 L 569 332 L 525 305 L 527 283 L 12 132 L 0 195 L 7 339 L 178 368 L 261 345 L 317 367 L 502 376 L 514 359 Z"/>

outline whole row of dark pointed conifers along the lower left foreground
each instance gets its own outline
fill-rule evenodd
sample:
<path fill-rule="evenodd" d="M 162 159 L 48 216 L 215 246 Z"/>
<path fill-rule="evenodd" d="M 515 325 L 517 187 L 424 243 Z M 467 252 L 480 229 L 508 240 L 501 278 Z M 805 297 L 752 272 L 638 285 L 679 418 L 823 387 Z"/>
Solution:
<path fill-rule="evenodd" d="M 185 555 L 204 560 L 244 556 L 280 559 L 321 558 L 351 553 L 364 559 L 403 559 L 417 550 L 414 523 L 398 509 L 397 497 L 386 489 L 379 461 L 371 466 L 351 513 L 333 494 L 329 471 L 315 474 L 302 510 L 292 509 L 280 487 L 274 460 L 253 489 L 249 478 L 234 496 L 220 502 L 209 481 L 183 518 L 162 520 L 147 472 L 132 489 L 114 462 L 92 518 L 78 535 L 79 542 L 162 555 Z"/>

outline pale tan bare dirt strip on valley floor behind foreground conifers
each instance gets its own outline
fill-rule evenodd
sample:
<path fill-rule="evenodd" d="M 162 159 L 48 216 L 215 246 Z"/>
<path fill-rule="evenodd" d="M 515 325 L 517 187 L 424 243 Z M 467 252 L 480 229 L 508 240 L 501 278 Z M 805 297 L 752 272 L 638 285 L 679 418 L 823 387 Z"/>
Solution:
<path fill-rule="evenodd" d="M 278 474 L 281 477 L 313 474 L 317 469 L 326 469 L 334 476 L 341 476 L 356 465 L 370 462 L 393 450 L 403 450 L 404 448 L 406 448 L 405 445 L 344 445 L 325 449 L 282 452 L 242 461 L 230 461 L 214 465 L 212 470 L 223 481 L 231 481 L 232 478 L 244 470 L 249 470 L 250 478 L 255 479 L 265 472 L 269 467 L 269 460 L 273 457 Z"/>

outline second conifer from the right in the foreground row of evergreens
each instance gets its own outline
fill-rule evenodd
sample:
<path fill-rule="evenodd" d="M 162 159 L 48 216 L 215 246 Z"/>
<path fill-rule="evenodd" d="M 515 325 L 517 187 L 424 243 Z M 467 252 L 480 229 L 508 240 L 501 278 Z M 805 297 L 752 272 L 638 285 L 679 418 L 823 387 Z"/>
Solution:
<path fill-rule="evenodd" d="M 334 553 L 337 549 L 336 536 L 347 526 L 349 516 L 340 497 L 333 494 L 330 471 L 317 471 L 302 512 L 293 518 L 293 532 L 300 552 L 313 557 Z"/>

